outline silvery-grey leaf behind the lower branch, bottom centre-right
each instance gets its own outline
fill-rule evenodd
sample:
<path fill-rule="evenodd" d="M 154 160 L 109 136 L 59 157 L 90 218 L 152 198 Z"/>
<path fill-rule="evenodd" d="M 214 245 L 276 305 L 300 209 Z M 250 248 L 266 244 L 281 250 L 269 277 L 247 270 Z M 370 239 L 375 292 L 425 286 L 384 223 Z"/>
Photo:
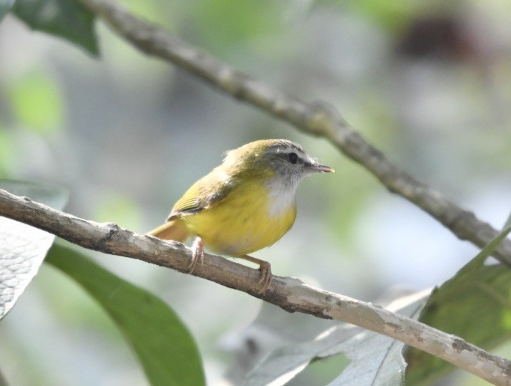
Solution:
<path fill-rule="evenodd" d="M 400 298 L 389 308 L 416 317 L 425 302 L 422 293 Z M 244 386 L 284 385 L 313 360 L 344 354 L 351 362 L 329 386 L 404 385 L 404 343 L 353 325 L 338 325 L 314 340 L 274 350 L 249 373 Z"/>

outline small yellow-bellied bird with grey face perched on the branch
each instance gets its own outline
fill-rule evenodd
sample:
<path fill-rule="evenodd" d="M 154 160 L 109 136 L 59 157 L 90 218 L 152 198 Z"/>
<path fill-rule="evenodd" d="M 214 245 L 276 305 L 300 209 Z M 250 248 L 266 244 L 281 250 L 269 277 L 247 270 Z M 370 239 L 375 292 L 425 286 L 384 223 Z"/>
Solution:
<path fill-rule="evenodd" d="M 249 256 L 271 246 L 296 219 L 295 193 L 309 174 L 334 172 L 290 140 L 257 140 L 225 152 L 222 164 L 192 184 L 167 222 L 149 232 L 185 242 L 194 236 L 188 273 L 203 261 L 204 248 L 259 265 L 264 293 L 272 283 L 269 262 Z"/>

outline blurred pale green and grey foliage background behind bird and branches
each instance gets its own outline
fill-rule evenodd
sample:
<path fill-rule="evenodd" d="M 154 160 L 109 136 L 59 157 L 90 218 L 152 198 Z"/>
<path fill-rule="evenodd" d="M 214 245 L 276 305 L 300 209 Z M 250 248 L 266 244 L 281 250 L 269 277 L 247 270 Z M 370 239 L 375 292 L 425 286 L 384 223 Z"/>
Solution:
<path fill-rule="evenodd" d="M 276 88 L 328 101 L 420 181 L 496 228 L 507 218 L 508 1 L 123 5 Z M 392 288 L 438 285 L 477 253 L 325 140 L 143 56 L 101 23 L 97 31 L 99 60 L 12 16 L 0 24 L 2 178 L 68 187 L 67 212 L 145 232 L 220 163 L 224 150 L 285 137 L 336 173 L 301 184 L 294 228 L 255 254 L 277 275 L 378 301 Z M 227 384 L 226 374 L 236 384 L 269 348 L 328 325 L 268 305 L 259 314 L 261 302 L 244 293 L 140 261 L 96 259 L 170 303 L 197 339 L 210 385 Z M 110 320 L 48 266 L 0 326 L 0 342 L 1 368 L 12 385 L 145 384 Z M 328 382 L 328 366 L 291 385 Z M 460 372 L 443 383 L 483 384 Z"/>

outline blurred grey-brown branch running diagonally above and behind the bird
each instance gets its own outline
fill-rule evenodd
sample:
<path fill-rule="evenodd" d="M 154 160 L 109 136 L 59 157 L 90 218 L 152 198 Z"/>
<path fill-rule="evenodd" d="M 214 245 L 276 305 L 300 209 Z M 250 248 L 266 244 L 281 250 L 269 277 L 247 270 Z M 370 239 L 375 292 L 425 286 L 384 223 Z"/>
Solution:
<path fill-rule="evenodd" d="M 209 53 L 171 36 L 165 29 L 133 16 L 114 1 L 78 1 L 140 51 L 175 64 L 215 89 L 260 108 L 303 132 L 325 137 L 344 155 L 371 172 L 387 189 L 428 212 L 459 239 L 482 248 L 497 236 L 498 231 L 490 224 L 480 221 L 472 212 L 393 165 L 380 150 L 353 130 L 331 105 L 321 101 L 304 103 L 240 73 Z M 502 241 L 495 257 L 511 266 L 510 240 Z"/>

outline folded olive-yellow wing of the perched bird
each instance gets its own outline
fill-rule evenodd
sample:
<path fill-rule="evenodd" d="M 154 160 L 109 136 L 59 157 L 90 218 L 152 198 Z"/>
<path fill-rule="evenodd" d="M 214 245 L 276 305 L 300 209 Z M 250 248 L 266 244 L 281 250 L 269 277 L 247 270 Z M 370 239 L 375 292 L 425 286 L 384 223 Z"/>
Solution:
<path fill-rule="evenodd" d="M 167 221 L 180 214 L 194 214 L 222 202 L 231 192 L 232 183 L 222 174 L 210 173 L 199 179 L 177 200 Z"/>

